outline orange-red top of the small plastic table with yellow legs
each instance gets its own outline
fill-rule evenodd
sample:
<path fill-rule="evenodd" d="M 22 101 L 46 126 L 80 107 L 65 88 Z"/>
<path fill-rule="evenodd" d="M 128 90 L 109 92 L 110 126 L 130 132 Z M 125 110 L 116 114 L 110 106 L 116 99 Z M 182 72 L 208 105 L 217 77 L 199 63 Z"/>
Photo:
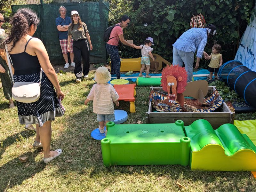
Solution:
<path fill-rule="evenodd" d="M 126 84 L 126 85 L 114 85 L 114 88 L 119 95 L 118 100 L 124 101 L 135 101 L 134 89 L 136 84 Z"/>

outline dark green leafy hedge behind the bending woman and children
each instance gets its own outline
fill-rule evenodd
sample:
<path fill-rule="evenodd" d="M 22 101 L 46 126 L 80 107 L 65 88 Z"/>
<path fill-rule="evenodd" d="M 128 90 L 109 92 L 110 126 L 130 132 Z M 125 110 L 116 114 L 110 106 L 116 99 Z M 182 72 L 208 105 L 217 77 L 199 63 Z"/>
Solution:
<path fill-rule="evenodd" d="M 116 24 L 123 14 L 130 15 L 132 22 L 124 30 L 124 38 L 134 38 L 134 44 L 139 45 L 151 36 L 154 53 L 172 62 L 172 44 L 189 29 L 192 15 L 201 12 L 206 23 L 217 28 L 217 34 L 208 40 L 205 51 L 210 54 L 212 45 L 220 44 L 223 62 L 226 62 L 234 59 L 240 38 L 251 22 L 250 15 L 255 14 L 253 7 L 253 0 L 116 0 L 110 1 L 110 9 L 116 17 L 110 13 L 109 25 Z M 140 50 L 123 44 L 119 45 L 119 50 L 123 58 L 140 57 Z M 207 67 L 208 61 L 201 60 L 200 66 Z"/>

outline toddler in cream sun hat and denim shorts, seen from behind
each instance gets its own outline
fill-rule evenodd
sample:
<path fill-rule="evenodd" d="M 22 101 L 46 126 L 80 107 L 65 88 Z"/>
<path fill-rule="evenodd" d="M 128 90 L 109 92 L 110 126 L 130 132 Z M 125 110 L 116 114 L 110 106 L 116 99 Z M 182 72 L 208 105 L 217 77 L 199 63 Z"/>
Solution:
<path fill-rule="evenodd" d="M 97 114 L 97 120 L 100 123 L 99 131 L 104 133 L 105 122 L 108 123 L 115 120 L 113 101 L 116 103 L 116 106 L 119 106 L 119 96 L 114 87 L 108 83 L 111 75 L 106 67 L 97 68 L 94 79 L 97 84 L 92 86 L 87 99 L 84 101 L 84 105 L 93 100 L 93 112 Z"/>

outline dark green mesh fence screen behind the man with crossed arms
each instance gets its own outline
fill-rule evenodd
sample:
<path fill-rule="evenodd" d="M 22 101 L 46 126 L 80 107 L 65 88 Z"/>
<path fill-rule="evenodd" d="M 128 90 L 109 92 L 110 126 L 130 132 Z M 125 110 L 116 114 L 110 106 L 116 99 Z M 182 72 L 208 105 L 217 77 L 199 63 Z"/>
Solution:
<path fill-rule="evenodd" d="M 12 12 L 17 12 L 20 8 L 29 7 L 34 10 L 40 18 L 37 26 L 35 37 L 41 39 L 48 52 L 51 63 L 64 63 L 58 30 L 56 28 L 55 19 L 60 16 L 59 7 L 67 8 L 67 16 L 70 12 L 78 11 L 81 20 L 86 23 L 93 50 L 90 51 L 91 63 L 107 63 L 107 53 L 103 34 L 108 27 L 108 8 L 107 2 L 77 2 L 77 3 L 54 3 L 54 4 L 29 4 L 29 5 L 12 5 Z M 108 6 L 108 8 L 106 7 Z"/>

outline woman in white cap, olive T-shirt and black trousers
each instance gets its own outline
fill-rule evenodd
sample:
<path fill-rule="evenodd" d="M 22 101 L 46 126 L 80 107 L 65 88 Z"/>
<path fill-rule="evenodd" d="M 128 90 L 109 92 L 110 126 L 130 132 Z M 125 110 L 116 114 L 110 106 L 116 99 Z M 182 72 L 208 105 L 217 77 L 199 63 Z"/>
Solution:
<path fill-rule="evenodd" d="M 88 73 L 90 70 L 90 50 L 92 51 L 91 38 L 88 33 L 87 26 L 81 21 L 77 11 L 71 11 L 71 21 L 72 24 L 68 27 L 68 51 L 71 38 L 73 39 L 73 52 L 75 59 L 75 76 L 76 83 L 81 82 L 81 77 L 84 74 L 84 78 L 88 78 Z M 83 58 L 83 72 L 81 66 L 81 56 Z"/>

